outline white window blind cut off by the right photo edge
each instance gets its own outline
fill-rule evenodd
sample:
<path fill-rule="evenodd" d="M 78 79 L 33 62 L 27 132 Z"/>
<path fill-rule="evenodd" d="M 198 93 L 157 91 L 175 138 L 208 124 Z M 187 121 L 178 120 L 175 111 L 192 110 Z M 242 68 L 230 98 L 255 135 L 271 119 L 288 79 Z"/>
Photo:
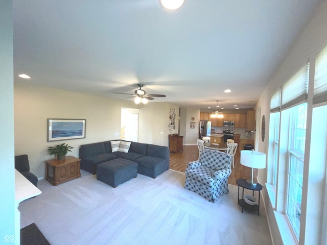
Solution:
<path fill-rule="evenodd" d="M 327 46 L 316 56 L 313 104 L 327 101 Z"/>

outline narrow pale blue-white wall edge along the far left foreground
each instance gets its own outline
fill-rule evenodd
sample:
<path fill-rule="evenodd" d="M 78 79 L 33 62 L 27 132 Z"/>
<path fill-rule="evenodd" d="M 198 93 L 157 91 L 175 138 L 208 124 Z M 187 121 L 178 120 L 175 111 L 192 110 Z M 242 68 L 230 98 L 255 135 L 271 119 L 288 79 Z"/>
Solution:
<path fill-rule="evenodd" d="M 5 236 L 15 237 L 16 234 L 12 1 L 1 0 L 0 6 L 0 243 L 3 244 L 11 243 Z"/>

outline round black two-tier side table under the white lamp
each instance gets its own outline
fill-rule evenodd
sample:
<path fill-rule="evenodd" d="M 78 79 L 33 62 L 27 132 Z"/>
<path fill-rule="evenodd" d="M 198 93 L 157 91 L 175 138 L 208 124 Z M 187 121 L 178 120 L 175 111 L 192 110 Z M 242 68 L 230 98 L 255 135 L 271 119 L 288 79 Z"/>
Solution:
<path fill-rule="evenodd" d="M 257 183 L 256 185 L 251 185 L 246 182 L 245 179 L 238 179 L 236 183 L 239 186 L 239 192 L 238 192 L 238 204 L 242 207 L 242 213 L 243 209 L 249 210 L 249 211 L 260 211 L 260 191 L 262 190 L 262 185 Z M 242 199 L 240 199 L 240 186 L 242 187 Z M 254 195 L 254 191 L 259 191 L 259 198 L 258 198 L 258 204 L 250 205 L 247 204 L 244 201 L 244 188 L 248 190 L 252 190 L 252 195 Z"/>

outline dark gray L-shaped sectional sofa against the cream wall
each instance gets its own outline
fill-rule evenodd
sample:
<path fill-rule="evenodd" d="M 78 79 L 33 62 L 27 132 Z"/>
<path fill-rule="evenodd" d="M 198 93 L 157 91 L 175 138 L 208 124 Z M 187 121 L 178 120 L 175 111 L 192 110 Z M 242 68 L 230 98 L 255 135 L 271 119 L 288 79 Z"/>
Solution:
<path fill-rule="evenodd" d="M 114 140 L 115 141 L 115 140 Z M 167 146 L 131 142 L 127 153 L 111 152 L 109 141 L 83 144 L 80 147 L 79 158 L 81 168 L 95 175 L 97 165 L 117 158 L 127 159 L 137 163 L 137 173 L 156 178 L 169 169 L 169 149 Z"/>

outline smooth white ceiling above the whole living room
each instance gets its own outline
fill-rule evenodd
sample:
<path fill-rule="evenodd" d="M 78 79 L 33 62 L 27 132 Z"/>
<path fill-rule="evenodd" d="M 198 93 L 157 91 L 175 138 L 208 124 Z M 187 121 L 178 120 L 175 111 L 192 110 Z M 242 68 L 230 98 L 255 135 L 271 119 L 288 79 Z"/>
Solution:
<path fill-rule="evenodd" d="M 320 0 L 15 0 L 14 76 L 117 99 L 251 108 Z M 229 94 L 225 89 L 231 89 Z M 131 100 L 131 99 L 128 99 Z"/>

